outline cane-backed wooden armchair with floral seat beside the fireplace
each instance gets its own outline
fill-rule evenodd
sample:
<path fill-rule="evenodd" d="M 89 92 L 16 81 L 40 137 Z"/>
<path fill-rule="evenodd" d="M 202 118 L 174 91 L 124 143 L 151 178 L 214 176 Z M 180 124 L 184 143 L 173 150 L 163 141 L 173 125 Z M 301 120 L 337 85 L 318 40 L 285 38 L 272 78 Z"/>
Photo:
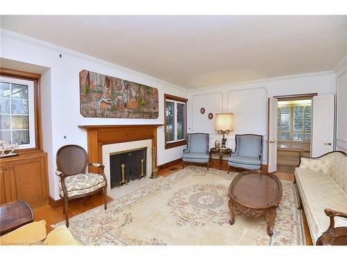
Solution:
<path fill-rule="evenodd" d="M 99 168 L 100 173 L 86 173 L 87 166 Z M 89 164 L 87 152 L 81 146 L 70 144 L 62 146 L 57 152 L 56 175 L 59 196 L 64 200 L 63 212 L 66 226 L 69 227 L 69 200 L 83 198 L 103 190 L 104 207 L 107 209 L 107 180 L 102 164 Z"/>

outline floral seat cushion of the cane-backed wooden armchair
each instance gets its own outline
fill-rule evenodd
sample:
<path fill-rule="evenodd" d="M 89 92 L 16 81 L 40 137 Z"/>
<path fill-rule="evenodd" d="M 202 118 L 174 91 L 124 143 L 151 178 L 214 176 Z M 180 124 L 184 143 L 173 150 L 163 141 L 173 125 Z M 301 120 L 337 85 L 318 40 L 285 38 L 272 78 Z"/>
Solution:
<path fill-rule="evenodd" d="M 67 196 L 71 197 L 96 191 L 96 189 L 105 186 L 105 181 L 103 180 L 103 175 L 81 173 L 66 177 L 65 186 L 67 188 Z M 64 196 L 61 182 L 58 183 L 58 188 L 60 195 Z"/>

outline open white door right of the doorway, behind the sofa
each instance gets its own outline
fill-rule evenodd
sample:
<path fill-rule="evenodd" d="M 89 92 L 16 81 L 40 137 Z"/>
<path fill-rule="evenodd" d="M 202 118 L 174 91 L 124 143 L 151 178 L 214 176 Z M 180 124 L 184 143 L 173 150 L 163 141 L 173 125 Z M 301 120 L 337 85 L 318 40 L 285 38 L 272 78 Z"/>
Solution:
<path fill-rule="evenodd" d="M 311 156 L 319 157 L 334 148 L 334 95 L 312 100 Z"/>

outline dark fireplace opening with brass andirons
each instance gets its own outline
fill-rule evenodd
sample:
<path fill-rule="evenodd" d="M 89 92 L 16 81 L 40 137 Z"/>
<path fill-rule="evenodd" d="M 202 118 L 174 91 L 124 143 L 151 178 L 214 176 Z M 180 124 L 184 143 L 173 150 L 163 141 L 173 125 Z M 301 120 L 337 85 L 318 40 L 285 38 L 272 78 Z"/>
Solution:
<path fill-rule="evenodd" d="M 146 176 L 147 147 L 110 153 L 111 189 Z"/>

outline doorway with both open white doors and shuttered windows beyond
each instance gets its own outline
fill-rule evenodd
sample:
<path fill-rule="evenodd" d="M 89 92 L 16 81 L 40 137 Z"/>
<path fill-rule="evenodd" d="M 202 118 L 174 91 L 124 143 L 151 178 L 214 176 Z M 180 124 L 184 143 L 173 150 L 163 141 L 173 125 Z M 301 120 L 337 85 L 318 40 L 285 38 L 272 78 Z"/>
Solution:
<path fill-rule="evenodd" d="M 269 98 L 268 172 L 294 173 L 301 156 L 319 157 L 334 149 L 334 95 Z"/>

